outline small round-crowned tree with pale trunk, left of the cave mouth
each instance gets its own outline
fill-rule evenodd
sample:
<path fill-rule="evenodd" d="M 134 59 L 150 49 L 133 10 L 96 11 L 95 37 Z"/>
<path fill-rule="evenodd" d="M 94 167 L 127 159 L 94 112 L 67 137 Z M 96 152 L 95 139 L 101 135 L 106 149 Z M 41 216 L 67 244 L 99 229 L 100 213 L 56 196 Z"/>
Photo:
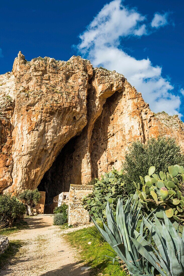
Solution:
<path fill-rule="evenodd" d="M 24 190 L 22 193 L 19 194 L 19 199 L 25 202 L 27 208 L 27 214 L 29 216 L 33 215 L 31 208 L 33 204 L 37 204 L 41 198 L 41 194 L 38 189 L 35 190 Z"/>

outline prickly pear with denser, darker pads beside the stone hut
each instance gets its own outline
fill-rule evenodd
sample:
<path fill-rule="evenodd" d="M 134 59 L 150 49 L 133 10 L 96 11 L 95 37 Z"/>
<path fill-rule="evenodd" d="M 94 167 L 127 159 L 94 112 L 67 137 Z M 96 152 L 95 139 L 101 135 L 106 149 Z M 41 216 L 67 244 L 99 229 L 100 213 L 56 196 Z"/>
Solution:
<path fill-rule="evenodd" d="M 114 168 L 113 168 L 114 169 Z M 101 176 L 101 179 L 95 178 L 96 183 L 93 187 L 93 193 L 82 198 L 83 208 L 89 211 L 89 214 L 96 220 L 101 220 L 100 215 L 106 218 L 107 202 L 112 204 L 113 214 L 116 214 L 116 205 L 118 198 L 126 200 L 127 193 L 124 189 L 122 171 L 113 170 Z"/>

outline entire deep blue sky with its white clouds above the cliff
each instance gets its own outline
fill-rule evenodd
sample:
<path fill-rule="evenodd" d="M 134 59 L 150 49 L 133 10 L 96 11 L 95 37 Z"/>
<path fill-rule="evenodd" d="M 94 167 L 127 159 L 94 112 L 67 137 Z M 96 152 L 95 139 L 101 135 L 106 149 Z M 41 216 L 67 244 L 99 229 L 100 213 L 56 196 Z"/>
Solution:
<path fill-rule="evenodd" d="M 27 60 L 72 55 L 127 77 L 154 112 L 184 115 L 182 0 L 3 1 L 0 74 Z"/>

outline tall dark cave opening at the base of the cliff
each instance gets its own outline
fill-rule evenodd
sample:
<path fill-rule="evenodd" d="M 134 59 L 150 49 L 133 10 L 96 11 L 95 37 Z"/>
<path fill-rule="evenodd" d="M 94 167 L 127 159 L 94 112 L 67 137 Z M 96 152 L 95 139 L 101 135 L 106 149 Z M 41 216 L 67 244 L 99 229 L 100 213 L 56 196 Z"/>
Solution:
<path fill-rule="evenodd" d="M 77 138 L 78 136 L 73 137 L 64 145 L 38 185 L 38 190 L 45 192 L 44 214 L 52 213 L 53 208 L 57 206 L 57 199 L 56 202 L 53 202 L 54 197 L 57 197 L 62 192 L 69 192 L 73 152 L 75 151 Z"/>

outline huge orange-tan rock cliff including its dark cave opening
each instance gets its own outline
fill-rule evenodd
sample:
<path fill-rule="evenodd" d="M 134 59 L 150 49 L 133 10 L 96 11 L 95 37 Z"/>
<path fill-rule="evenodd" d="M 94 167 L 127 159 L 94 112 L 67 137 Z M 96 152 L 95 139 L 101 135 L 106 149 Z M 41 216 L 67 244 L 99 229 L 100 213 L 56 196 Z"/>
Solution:
<path fill-rule="evenodd" d="M 184 148 L 178 116 L 155 115 L 115 71 L 73 56 L 25 60 L 0 76 L 0 192 L 53 196 L 121 166 L 133 140 L 159 134 Z"/>

